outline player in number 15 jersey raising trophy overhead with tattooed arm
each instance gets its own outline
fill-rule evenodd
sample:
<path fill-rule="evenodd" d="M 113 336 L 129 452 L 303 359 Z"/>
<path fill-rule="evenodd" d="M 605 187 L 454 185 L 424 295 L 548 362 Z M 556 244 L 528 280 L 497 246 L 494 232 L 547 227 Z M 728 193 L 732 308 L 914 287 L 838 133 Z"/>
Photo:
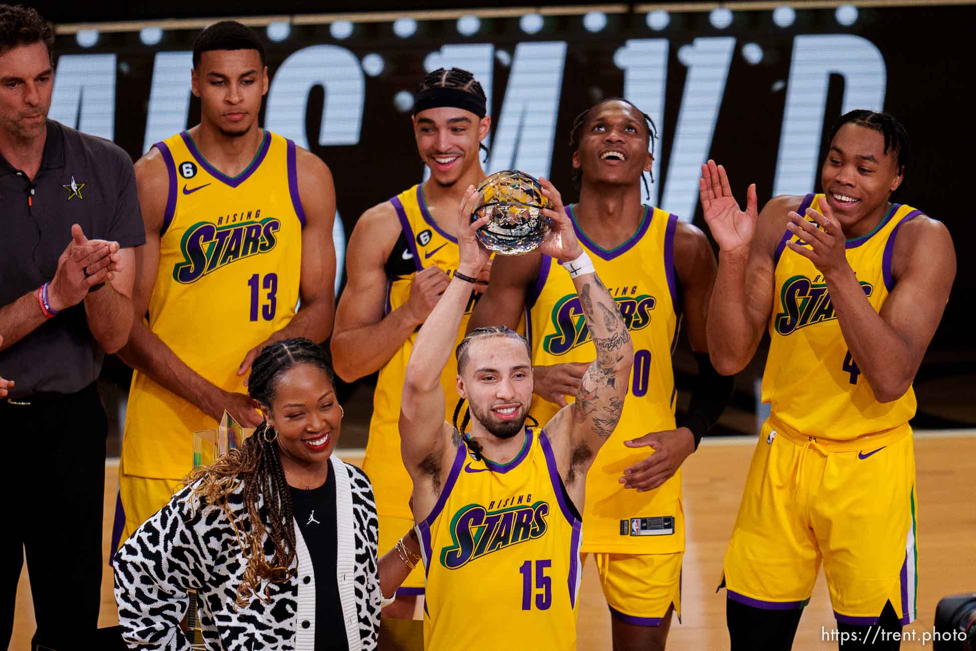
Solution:
<path fill-rule="evenodd" d="M 533 385 L 525 339 L 495 326 L 472 332 L 455 348 L 473 276 L 489 257 L 474 237 L 487 218 L 470 223 L 479 197 L 468 186 L 456 218 L 460 263 L 417 336 L 400 408 L 427 571 L 427 649 L 576 648 L 587 472 L 620 420 L 633 346 L 559 193 L 542 183 L 552 202 L 544 211 L 552 230 L 541 248 L 569 272 L 597 357 L 576 402 L 533 429 L 524 427 Z M 452 348 L 469 432 L 443 417 L 441 373 Z"/>

